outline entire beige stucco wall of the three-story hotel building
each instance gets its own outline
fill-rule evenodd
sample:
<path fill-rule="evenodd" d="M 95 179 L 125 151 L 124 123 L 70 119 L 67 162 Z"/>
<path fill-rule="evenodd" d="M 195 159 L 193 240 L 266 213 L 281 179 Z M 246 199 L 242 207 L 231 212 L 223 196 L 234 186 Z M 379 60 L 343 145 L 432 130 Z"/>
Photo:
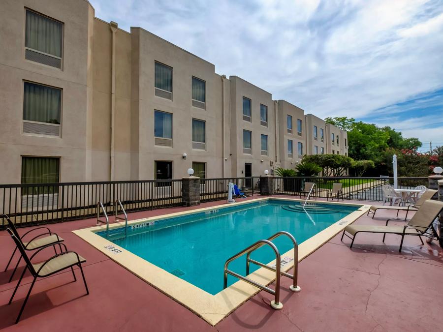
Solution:
<path fill-rule="evenodd" d="M 61 69 L 25 60 L 25 8 L 63 23 Z M 325 146 L 333 130 L 340 153 L 348 151 L 346 132 L 328 132 L 324 121 L 237 76 L 217 74 L 214 64 L 146 30 L 127 32 L 95 18 L 86 0 L 4 0 L 1 9 L 2 44 L 8 46 L 0 48 L 0 183 L 20 183 L 21 157 L 28 155 L 59 157 L 63 182 L 149 180 L 156 160 L 172 161 L 174 179 L 186 176 L 193 161 L 206 163 L 207 178 L 243 177 L 245 163 L 259 176 L 294 168 L 301 160 L 298 142 L 312 153 L 314 123 L 325 128 Z M 173 68 L 172 100 L 155 95 L 155 61 Z M 206 82 L 205 109 L 192 106 L 192 76 Z M 63 90 L 60 137 L 23 133 L 25 81 Z M 243 120 L 243 96 L 251 99 L 251 122 Z M 268 109 L 267 126 L 260 124 L 260 104 Z M 154 110 L 173 114 L 172 147 L 155 145 Z M 192 149 L 192 119 L 206 122 L 206 150 Z M 243 129 L 252 131 L 252 154 L 243 153 Z M 267 156 L 261 134 L 268 136 Z M 288 139 L 293 158 L 287 157 Z"/>

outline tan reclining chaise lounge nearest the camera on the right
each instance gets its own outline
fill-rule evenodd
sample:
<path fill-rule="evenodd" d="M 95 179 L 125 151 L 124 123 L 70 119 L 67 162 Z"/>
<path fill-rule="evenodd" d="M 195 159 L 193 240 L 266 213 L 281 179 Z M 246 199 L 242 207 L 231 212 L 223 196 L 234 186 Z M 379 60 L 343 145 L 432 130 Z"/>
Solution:
<path fill-rule="evenodd" d="M 345 230 L 343 231 L 341 240 L 343 241 L 343 236 L 346 235 L 349 239 L 352 240 L 350 244 L 350 247 L 352 248 L 355 237 L 357 236 L 358 233 L 383 233 L 383 242 L 386 234 L 397 234 L 402 237 L 399 249 L 399 251 L 402 251 L 403 240 L 405 238 L 405 235 L 418 236 L 422 244 L 424 243 L 423 240 L 421 240 L 420 236 L 424 236 L 433 240 L 440 240 L 439 235 L 437 234 L 437 231 L 435 230 L 432 223 L 442 211 L 443 211 L 443 202 L 435 200 L 427 200 L 423 202 L 420 209 L 418 209 L 415 212 L 411 220 L 405 226 L 388 226 L 388 222 L 391 220 L 405 221 L 404 219 L 398 219 L 398 218 L 391 218 L 386 220 L 385 226 L 351 224 L 346 226 Z M 352 237 L 349 236 L 348 234 L 345 234 L 345 232 L 349 233 Z"/>

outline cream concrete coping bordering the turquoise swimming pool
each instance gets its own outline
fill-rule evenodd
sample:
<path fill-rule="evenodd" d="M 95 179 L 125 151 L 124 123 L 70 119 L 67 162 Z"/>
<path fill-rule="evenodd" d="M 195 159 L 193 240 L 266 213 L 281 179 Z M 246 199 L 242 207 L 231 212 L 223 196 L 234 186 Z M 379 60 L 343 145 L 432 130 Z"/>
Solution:
<path fill-rule="evenodd" d="M 150 221 L 157 221 L 161 219 L 168 219 L 208 210 L 214 209 L 224 209 L 232 206 L 241 206 L 246 204 L 251 204 L 254 202 L 262 202 L 268 200 L 280 200 L 280 201 L 294 201 L 301 202 L 302 200 L 294 198 L 283 198 L 283 197 L 261 197 L 258 199 L 252 199 L 243 202 L 236 202 L 232 204 L 225 205 L 215 205 L 211 207 L 181 211 L 169 214 L 163 214 L 148 218 L 142 218 L 137 220 L 128 221 L 128 226 L 136 225 L 141 223 L 147 223 Z M 316 201 L 309 201 L 311 203 L 316 203 Z M 336 202 L 318 202 L 321 204 L 337 205 Z M 340 233 L 347 225 L 353 223 L 360 216 L 366 213 L 370 205 L 354 204 L 354 203 L 339 203 L 339 205 L 345 206 L 358 206 L 359 209 L 352 211 L 344 218 L 333 223 L 329 227 L 325 228 L 321 232 L 317 233 L 308 240 L 302 242 L 298 246 L 298 261 L 302 261 L 304 258 L 308 257 L 314 251 L 316 251 L 321 245 L 329 241 L 331 238 Z M 109 224 L 109 229 L 119 228 L 124 226 L 125 222 Z M 96 249 L 104 253 L 110 259 L 112 259 L 117 264 L 121 265 L 129 272 L 135 274 L 151 286 L 157 288 L 159 291 L 172 298 L 173 300 L 181 303 L 196 315 L 201 317 L 207 323 L 212 326 L 217 325 L 222 319 L 229 315 L 232 311 L 238 308 L 241 304 L 252 298 L 257 294 L 260 289 L 254 287 L 253 285 L 246 283 L 244 281 L 237 281 L 216 295 L 212 295 L 194 285 L 186 280 L 183 280 L 165 270 L 159 268 L 158 266 L 146 261 L 145 259 L 138 257 L 132 252 L 127 251 L 124 248 L 119 247 L 112 241 L 109 241 L 101 236 L 95 234 L 96 232 L 106 230 L 106 225 L 94 226 L 90 228 L 84 228 L 72 231 L 75 235 L 83 239 L 84 241 L 90 243 Z M 293 259 L 293 250 L 281 254 L 281 257 L 287 257 Z M 293 267 L 293 260 L 285 265 L 283 271 L 288 271 Z M 268 265 L 275 264 L 275 260 L 268 263 Z M 255 272 L 251 273 L 249 276 L 252 280 L 259 282 L 263 285 L 269 285 L 275 280 L 275 272 L 260 268 Z M 300 284 L 303 289 L 303 281 Z"/>

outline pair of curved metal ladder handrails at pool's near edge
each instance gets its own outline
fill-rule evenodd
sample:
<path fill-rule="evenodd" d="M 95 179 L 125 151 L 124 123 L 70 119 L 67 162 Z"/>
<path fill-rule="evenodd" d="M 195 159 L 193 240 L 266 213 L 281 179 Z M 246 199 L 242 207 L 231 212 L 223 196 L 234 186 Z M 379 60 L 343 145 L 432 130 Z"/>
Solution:
<path fill-rule="evenodd" d="M 274 240 L 282 235 L 287 236 L 292 241 L 292 244 L 294 245 L 294 274 L 289 274 L 287 272 L 281 271 L 282 263 L 287 264 L 287 262 L 282 261 L 282 259 L 280 257 L 279 249 L 277 249 L 276 245 L 271 242 L 271 240 Z M 254 250 L 256 250 L 264 245 L 269 245 L 272 248 L 272 250 L 274 250 L 275 260 L 276 260 L 276 267 L 275 268 L 273 268 L 269 265 L 263 264 L 261 262 L 258 262 L 250 257 L 251 253 Z M 247 278 L 246 276 L 240 275 L 240 274 L 228 269 L 228 265 L 230 262 L 232 262 L 233 260 L 244 255 L 245 253 L 247 254 L 247 256 L 246 256 L 246 275 L 249 275 L 250 263 L 256 264 L 256 265 L 258 265 L 262 268 L 265 268 L 267 270 L 274 271 L 275 272 L 275 290 L 271 289 L 265 285 L 262 285 L 250 278 Z M 227 275 L 228 274 L 235 276 L 243 281 L 246 281 L 246 282 L 250 283 L 251 285 L 258 287 L 258 288 L 274 295 L 274 300 L 271 301 L 271 307 L 276 310 L 280 310 L 283 308 L 283 303 L 280 302 L 280 276 L 281 275 L 284 275 L 284 276 L 292 279 L 292 285 L 289 286 L 289 289 L 291 291 L 300 292 L 300 290 L 301 290 L 301 288 L 297 285 L 297 278 L 298 278 L 298 244 L 297 244 L 297 241 L 295 241 L 295 238 L 290 233 L 285 232 L 285 231 L 278 232 L 266 240 L 256 241 L 255 243 L 251 244 L 246 249 L 240 251 L 239 253 L 237 253 L 234 256 L 232 256 L 231 258 L 229 258 L 224 263 L 223 289 L 225 289 L 227 287 Z"/>

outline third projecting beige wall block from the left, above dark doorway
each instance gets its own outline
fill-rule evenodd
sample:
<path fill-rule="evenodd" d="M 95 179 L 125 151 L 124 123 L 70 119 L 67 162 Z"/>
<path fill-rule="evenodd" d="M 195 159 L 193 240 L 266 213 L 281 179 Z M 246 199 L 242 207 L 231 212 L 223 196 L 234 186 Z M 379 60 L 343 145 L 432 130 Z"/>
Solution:
<path fill-rule="evenodd" d="M 232 175 L 245 176 L 245 164 L 252 164 L 252 175 L 264 175 L 276 164 L 275 103 L 271 93 L 237 77 L 230 76 Z M 243 120 L 243 97 L 251 100 L 251 121 Z M 268 109 L 267 126 L 260 124 L 260 105 Z M 252 132 L 252 154 L 243 151 L 243 130 Z M 261 135 L 268 136 L 268 155 L 261 154 Z"/>

